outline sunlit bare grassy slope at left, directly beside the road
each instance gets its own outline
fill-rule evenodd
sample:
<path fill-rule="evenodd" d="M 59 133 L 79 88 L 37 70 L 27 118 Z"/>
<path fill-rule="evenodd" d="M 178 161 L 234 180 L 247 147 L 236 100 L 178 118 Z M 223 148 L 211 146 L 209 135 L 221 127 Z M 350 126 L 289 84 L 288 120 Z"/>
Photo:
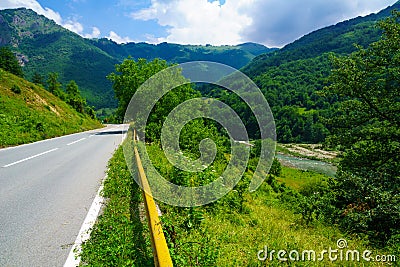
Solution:
<path fill-rule="evenodd" d="M 42 87 L 0 69 L 0 147 L 99 127 Z"/>

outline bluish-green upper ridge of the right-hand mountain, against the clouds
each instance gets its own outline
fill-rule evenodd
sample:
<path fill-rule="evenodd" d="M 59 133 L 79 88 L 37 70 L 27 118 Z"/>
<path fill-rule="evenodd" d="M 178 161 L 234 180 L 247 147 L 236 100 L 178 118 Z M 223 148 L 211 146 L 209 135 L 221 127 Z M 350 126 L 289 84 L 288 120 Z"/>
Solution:
<path fill-rule="evenodd" d="M 294 60 L 313 58 L 327 52 L 349 54 L 355 51 L 354 44 L 366 47 L 377 41 L 381 32 L 376 27 L 376 22 L 389 17 L 394 9 L 400 10 L 400 1 L 379 13 L 346 20 L 309 33 L 275 53 L 256 57 L 243 70 L 249 76 L 255 77 L 271 66 Z"/>

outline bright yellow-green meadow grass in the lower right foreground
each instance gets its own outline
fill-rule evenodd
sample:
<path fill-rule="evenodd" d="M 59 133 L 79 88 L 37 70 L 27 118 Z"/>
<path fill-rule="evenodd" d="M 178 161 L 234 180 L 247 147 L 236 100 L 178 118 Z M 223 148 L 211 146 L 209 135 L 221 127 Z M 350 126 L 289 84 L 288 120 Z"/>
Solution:
<path fill-rule="evenodd" d="M 291 177 L 291 175 L 299 177 Z M 306 185 L 310 177 L 307 173 L 289 168 L 283 169 L 282 180 L 289 179 L 296 187 Z M 319 179 L 319 174 L 315 174 Z M 231 193 L 230 193 L 231 194 Z M 229 198 L 229 194 L 225 198 Z M 274 260 L 260 261 L 258 252 L 265 247 L 271 250 L 297 250 L 300 253 L 304 250 L 314 250 L 317 253 L 337 248 L 337 240 L 347 240 L 348 249 L 364 251 L 367 244 L 356 237 L 347 236 L 335 226 L 326 226 L 321 223 L 305 225 L 300 214 L 295 214 L 285 203 L 283 203 L 271 190 L 269 185 L 264 183 L 255 193 L 248 193 L 245 201 L 245 212 L 226 206 L 224 199 L 220 200 L 224 207 L 217 210 L 210 210 L 207 207 L 200 208 L 204 212 L 204 220 L 195 229 L 187 229 L 183 222 L 187 217 L 187 209 L 171 208 L 162 206 L 165 215 L 164 220 L 175 226 L 175 241 L 178 248 L 183 244 L 204 240 L 199 247 L 204 250 L 211 250 L 208 254 L 214 255 L 212 265 L 200 263 L 204 259 L 204 253 L 191 255 L 191 251 L 181 248 L 175 250 L 174 259 L 176 262 L 180 257 L 186 257 L 186 264 L 177 266 L 281 266 L 283 262 Z M 172 246 L 173 247 L 173 246 Z M 197 250 L 199 251 L 199 249 Z M 192 260 L 188 260 L 188 256 Z M 196 260 L 193 260 L 196 259 Z M 288 266 L 361 266 L 360 263 L 340 262 L 335 263 L 328 260 L 327 256 L 322 262 L 292 262 Z M 368 265 L 365 266 L 376 266 Z"/>

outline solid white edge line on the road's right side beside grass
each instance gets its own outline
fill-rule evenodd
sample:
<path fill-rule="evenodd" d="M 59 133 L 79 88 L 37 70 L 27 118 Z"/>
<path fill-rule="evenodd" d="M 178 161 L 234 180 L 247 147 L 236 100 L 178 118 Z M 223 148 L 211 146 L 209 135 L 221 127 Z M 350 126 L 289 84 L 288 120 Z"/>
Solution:
<path fill-rule="evenodd" d="M 107 177 L 106 177 L 107 178 Z M 103 179 L 104 180 L 106 179 Z M 103 182 L 99 190 L 97 191 L 96 197 L 94 198 L 92 205 L 90 206 L 89 212 L 86 215 L 86 218 L 79 230 L 79 234 L 75 239 L 75 243 L 69 251 L 68 258 L 64 263 L 64 267 L 76 267 L 79 266 L 81 257 L 80 253 L 82 252 L 82 243 L 87 241 L 90 237 L 90 233 L 92 232 L 93 225 L 97 220 L 97 216 L 99 215 L 101 206 L 103 204 L 103 197 L 100 196 L 100 192 L 103 190 Z"/>

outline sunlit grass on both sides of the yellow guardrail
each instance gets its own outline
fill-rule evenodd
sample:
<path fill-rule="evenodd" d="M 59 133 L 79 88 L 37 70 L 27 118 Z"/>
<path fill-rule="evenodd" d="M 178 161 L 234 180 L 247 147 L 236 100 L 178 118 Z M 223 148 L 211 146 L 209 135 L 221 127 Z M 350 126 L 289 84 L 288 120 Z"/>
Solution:
<path fill-rule="evenodd" d="M 158 155 L 159 149 L 150 153 Z M 164 164 L 154 160 L 153 164 Z M 247 173 L 249 174 L 249 173 Z M 104 195 L 109 199 L 103 215 L 94 227 L 91 239 L 84 245 L 84 264 L 89 266 L 152 265 L 148 232 L 138 217 L 141 198 L 133 182 L 121 149 L 110 162 Z M 282 167 L 277 178 L 278 189 L 300 191 L 310 183 L 328 179 L 322 174 Z M 282 187 L 282 184 L 286 186 Z M 279 189 L 281 190 L 281 189 Z M 163 229 L 174 266 L 381 266 L 363 261 L 288 261 L 276 258 L 261 261 L 264 248 L 270 252 L 337 249 L 345 239 L 348 247 L 341 250 L 369 249 L 372 255 L 385 254 L 368 246 L 367 241 L 349 236 L 336 226 L 319 221 L 305 224 L 301 214 L 293 211 L 267 182 L 244 194 L 244 204 L 237 205 L 237 192 L 231 191 L 218 202 L 196 208 L 178 208 L 159 203 Z M 281 191 L 282 192 L 282 191 Z M 294 195 L 295 196 L 295 195 Z M 296 201 L 296 199 L 294 199 Z M 340 250 L 339 250 L 340 251 Z M 269 253 L 268 252 L 268 253 Z M 269 256 L 269 254 L 268 254 Z M 287 257 L 287 255 L 286 255 Z M 383 266 L 383 265 L 382 265 Z"/>

